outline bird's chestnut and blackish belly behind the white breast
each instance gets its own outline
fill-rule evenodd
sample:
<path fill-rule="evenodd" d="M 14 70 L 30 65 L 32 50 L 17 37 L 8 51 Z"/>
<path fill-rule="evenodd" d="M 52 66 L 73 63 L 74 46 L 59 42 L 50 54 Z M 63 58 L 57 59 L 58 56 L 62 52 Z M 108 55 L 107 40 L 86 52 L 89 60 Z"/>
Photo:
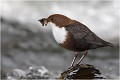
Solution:
<path fill-rule="evenodd" d="M 59 44 L 70 51 L 80 52 L 88 50 L 87 43 L 84 40 L 76 40 L 72 34 L 68 33 L 64 43 Z"/>

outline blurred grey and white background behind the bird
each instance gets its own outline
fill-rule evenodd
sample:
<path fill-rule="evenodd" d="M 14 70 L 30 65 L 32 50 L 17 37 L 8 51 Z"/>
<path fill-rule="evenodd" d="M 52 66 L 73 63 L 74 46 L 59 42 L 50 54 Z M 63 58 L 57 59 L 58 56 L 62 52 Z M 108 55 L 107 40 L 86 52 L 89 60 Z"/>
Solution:
<path fill-rule="evenodd" d="M 53 72 L 66 70 L 73 52 L 61 48 L 52 36 L 51 26 L 38 19 L 59 13 L 87 25 L 100 38 L 119 45 L 119 1 L 2 1 L 1 72 L 45 66 Z M 80 52 L 79 58 L 82 56 Z M 78 59 L 79 59 L 78 58 Z M 78 60 L 77 59 L 77 60 Z M 89 50 L 82 61 L 108 78 L 119 77 L 119 47 Z"/>

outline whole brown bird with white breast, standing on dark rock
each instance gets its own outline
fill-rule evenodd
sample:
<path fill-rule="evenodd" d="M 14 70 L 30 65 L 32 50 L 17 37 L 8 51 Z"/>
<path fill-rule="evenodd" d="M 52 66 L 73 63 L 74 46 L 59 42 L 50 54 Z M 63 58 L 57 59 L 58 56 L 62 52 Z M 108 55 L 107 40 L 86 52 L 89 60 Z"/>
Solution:
<path fill-rule="evenodd" d="M 53 14 L 48 18 L 43 18 L 38 21 L 41 22 L 42 26 L 50 23 L 52 25 L 53 36 L 56 42 L 61 47 L 74 51 L 75 56 L 71 63 L 71 67 L 73 67 L 78 52 L 80 51 L 84 51 L 85 53 L 77 64 L 80 64 L 83 58 L 87 55 L 87 50 L 89 49 L 114 46 L 113 44 L 99 38 L 86 25 L 61 14 Z"/>

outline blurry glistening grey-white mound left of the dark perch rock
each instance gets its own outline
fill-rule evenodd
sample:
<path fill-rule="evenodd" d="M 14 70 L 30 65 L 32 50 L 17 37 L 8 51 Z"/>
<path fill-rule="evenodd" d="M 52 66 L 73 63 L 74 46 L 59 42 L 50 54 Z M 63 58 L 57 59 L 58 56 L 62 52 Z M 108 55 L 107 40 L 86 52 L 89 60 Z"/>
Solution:
<path fill-rule="evenodd" d="M 51 73 L 43 66 L 29 67 L 29 69 L 26 71 L 21 69 L 14 69 L 10 73 L 7 73 L 7 80 L 49 79 L 50 75 Z"/>

